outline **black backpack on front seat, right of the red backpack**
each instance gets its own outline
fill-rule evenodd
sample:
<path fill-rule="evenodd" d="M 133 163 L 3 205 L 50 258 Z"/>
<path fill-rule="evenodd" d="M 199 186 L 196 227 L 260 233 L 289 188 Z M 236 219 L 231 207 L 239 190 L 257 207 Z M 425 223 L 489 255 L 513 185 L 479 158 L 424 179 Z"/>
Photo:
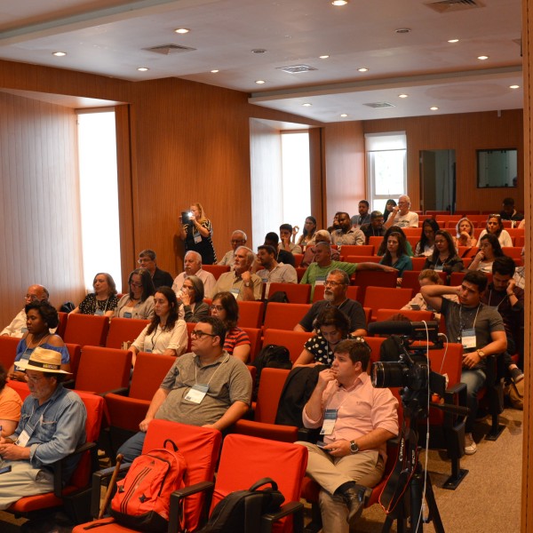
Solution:
<path fill-rule="evenodd" d="M 270 485 L 260 489 L 264 485 Z M 279 511 L 285 497 L 270 478 L 256 481 L 248 490 L 235 490 L 219 501 L 211 518 L 198 533 L 244 533 L 245 526 L 260 529 L 262 514 Z"/>

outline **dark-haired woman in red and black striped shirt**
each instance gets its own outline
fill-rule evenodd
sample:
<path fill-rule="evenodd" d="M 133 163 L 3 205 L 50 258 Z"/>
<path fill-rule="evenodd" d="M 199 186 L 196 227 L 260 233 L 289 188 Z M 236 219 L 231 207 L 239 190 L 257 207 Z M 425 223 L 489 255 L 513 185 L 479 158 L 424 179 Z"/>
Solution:
<path fill-rule="evenodd" d="M 219 318 L 226 327 L 224 349 L 242 362 L 250 357 L 251 342 L 246 331 L 237 327 L 239 322 L 239 306 L 231 292 L 218 292 L 211 304 L 211 316 Z"/>

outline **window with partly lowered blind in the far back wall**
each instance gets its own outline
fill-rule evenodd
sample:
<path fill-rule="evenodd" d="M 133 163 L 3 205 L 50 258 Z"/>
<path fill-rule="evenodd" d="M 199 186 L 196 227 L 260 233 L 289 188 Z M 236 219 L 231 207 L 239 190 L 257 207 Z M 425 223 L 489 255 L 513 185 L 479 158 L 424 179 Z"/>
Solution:
<path fill-rule="evenodd" d="M 389 198 L 398 200 L 407 189 L 405 132 L 367 133 L 367 186 L 372 211 L 385 209 Z"/>

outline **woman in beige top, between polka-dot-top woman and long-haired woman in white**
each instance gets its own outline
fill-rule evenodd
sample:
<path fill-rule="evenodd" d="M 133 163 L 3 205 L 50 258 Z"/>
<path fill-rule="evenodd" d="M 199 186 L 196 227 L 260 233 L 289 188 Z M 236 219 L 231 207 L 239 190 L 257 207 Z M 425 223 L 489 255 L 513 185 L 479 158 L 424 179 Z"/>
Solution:
<path fill-rule="evenodd" d="M 154 316 L 155 287 L 147 269 L 133 270 L 128 279 L 128 287 L 129 293 L 118 300 L 115 316 L 151 320 Z"/>

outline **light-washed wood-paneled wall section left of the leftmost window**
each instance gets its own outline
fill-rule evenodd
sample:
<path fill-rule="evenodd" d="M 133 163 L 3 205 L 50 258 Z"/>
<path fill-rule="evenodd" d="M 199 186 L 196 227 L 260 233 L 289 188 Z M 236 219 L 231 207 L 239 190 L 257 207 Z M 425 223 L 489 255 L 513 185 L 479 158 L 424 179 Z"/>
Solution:
<path fill-rule="evenodd" d="M 83 295 L 76 114 L 0 92 L 0 324 L 29 285 L 54 305 Z M 0 329 L 2 329 L 0 328 Z"/>

